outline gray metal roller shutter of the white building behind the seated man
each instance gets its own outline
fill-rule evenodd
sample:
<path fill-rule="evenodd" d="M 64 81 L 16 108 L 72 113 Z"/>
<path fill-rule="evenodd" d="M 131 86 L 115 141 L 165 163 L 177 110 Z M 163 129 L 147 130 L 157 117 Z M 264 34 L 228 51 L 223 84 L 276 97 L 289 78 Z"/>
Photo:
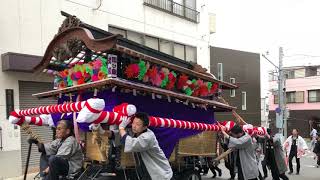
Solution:
<path fill-rule="evenodd" d="M 37 99 L 32 97 L 32 94 L 52 90 L 52 83 L 44 82 L 30 82 L 30 81 L 19 81 L 19 101 L 20 109 L 45 106 L 49 104 L 56 104 L 57 101 L 53 99 Z M 49 127 L 38 127 L 32 126 L 33 131 L 41 137 L 44 142 L 52 141 L 53 133 Z M 29 136 L 21 130 L 21 162 L 22 162 L 22 173 L 24 172 L 29 144 L 27 142 Z M 33 145 L 32 152 L 29 161 L 29 171 L 34 172 L 39 168 L 40 153 L 38 148 Z"/>

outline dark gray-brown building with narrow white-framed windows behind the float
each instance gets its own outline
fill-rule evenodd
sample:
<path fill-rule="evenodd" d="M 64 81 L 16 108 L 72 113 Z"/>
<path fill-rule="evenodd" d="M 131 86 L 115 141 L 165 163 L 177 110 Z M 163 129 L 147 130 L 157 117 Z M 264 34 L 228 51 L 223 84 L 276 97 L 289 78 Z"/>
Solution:
<path fill-rule="evenodd" d="M 261 124 L 260 55 L 211 47 L 211 72 L 220 80 L 239 86 L 222 92 L 224 99 L 237 107 L 237 113 L 253 125 Z M 235 120 L 231 113 L 216 113 L 217 120 Z"/>

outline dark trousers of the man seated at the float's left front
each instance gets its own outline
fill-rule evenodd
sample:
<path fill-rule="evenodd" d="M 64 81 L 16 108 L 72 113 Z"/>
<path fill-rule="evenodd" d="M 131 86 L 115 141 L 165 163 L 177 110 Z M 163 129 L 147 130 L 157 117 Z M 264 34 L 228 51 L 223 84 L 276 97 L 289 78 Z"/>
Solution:
<path fill-rule="evenodd" d="M 42 172 L 49 167 L 49 174 Z M 67 160 L 57 156 L 46 156 L 41 154 L 40 157 L 40 173 L 45 180 L 57 180 L 59 176 L 67 176 L 69 171 L 69 163 Z"/>

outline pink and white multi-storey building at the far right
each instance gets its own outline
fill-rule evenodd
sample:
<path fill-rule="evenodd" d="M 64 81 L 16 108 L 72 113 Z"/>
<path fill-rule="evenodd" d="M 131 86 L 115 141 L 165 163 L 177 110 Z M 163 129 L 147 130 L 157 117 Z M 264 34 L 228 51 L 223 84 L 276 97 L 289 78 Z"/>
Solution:
<path fill-rule="evenodd" d="M 303 137 L 309 137 L 311 126 L 320 128 L 320 67 L 301 66 L 285 68 L 286 107 L 289 110 L 287 124 L 288 134 L 296 128 Z M 270 74 L 269 97 L 271 126 L 275 127 L 278 107 L 277 81 Z"/>

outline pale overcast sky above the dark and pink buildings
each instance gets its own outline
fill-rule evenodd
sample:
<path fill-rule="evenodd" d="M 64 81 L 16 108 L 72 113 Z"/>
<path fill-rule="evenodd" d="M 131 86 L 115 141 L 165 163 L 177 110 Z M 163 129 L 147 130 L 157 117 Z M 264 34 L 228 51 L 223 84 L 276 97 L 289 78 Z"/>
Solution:
<path fill-rule="evenodd" d="M 320 64 L 319 0 L 209 0 L 216 14 L 213 45 L 256 53 L 269 51 L 278 64 L 278 48 L 284 48 L 284 64 Z M 261 59 L 261 96 L 265 96 L 267 71 Z"/>

